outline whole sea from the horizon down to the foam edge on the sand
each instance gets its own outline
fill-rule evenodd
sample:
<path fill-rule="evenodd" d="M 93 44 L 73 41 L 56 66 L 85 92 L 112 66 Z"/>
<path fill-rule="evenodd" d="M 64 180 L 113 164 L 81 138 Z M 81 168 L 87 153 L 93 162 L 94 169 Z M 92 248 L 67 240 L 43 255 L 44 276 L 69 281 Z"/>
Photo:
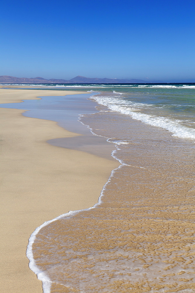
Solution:
<path fill-rule="evenodd" d="M 195 84 L 54 86 L 89 91 L 94 111 L 78 119 L 111 143 L 120 166 L 97 204 L 30 237 L 44 293 L 194 292 Z"/>

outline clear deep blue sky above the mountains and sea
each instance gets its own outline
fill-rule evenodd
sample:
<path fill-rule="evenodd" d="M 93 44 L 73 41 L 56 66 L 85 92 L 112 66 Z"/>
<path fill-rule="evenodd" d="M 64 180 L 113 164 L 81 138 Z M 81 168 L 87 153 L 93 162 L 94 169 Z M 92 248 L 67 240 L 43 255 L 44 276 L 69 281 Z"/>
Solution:
<path fill-rule="evenodd" d="M 195 1 L 4 1 L 0 75 L 195 81 Z"/>

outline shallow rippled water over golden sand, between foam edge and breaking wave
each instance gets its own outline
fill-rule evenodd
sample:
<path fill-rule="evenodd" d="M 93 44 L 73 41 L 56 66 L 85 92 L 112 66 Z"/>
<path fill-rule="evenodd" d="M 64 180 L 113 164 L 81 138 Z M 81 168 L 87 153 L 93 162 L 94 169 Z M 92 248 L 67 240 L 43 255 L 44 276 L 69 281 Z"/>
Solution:
<path fill-rule="evenodd" d="M 45 292 L 194 292 L 193 140 L 97 108 L 81 122 L 117 145 L 121 166 L 93 209 L 36 235 Z"/>

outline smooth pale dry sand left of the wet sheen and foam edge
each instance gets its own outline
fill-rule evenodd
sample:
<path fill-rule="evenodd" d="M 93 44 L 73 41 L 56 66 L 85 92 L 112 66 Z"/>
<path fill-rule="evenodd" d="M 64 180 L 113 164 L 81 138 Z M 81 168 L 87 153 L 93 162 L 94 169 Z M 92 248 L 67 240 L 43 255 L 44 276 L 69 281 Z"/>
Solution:
<path fill-rule="evenodd" d="M 0 103 L 76 91 L 0 89 Z M 21 104 L 22 108 L 22 104 Z M 117 161 L 46 141 L 78 134 L 55 122 L 22 116 L 24 110 L 1 108 L 1 292 L 41 293 L 41 281 L 28 268 L 26 247 L 34 229 L 69 210 L 97 202 Z"/>

